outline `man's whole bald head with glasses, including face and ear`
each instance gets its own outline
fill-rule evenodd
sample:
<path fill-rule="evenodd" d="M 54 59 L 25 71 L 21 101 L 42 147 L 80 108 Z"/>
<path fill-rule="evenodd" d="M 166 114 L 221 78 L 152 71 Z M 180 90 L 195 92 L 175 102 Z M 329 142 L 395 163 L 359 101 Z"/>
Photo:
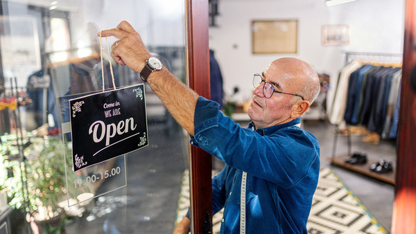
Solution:
<path fill-rule="evenodd" d="M 293 57 L 273 61 L 262 76 L 263 85 L 253 90 L 248 109 L 248 116 L 259 128 L 300 118 L 320 91 L 318 75 L 313 68 Z"/>

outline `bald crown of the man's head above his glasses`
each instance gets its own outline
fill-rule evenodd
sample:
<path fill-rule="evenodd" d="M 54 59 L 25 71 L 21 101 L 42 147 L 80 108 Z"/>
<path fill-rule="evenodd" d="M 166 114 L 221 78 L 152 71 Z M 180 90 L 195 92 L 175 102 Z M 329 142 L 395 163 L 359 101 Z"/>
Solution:
<path fill-rule="evenodd" d="M 303 96 L 310 103 L 315 100 L 320 91 L 318 74 L 302 60 L 294 57 L 282 57 L 273 61 L 265 74 L 270 77 L 281 77 L 288 83 L 288 89 Z"/>

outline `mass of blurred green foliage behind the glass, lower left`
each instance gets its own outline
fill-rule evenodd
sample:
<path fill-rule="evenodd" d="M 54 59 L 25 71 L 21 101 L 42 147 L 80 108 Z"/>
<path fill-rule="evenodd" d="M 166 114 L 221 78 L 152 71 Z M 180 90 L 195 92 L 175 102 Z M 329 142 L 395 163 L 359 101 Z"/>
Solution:
<path fill-rule="evenodd" d="M 7 138 L 0 152 L 3 158 L 18 154 L 12 135 Z M 9 205 L 28 213 L 42 225 L 46 233 L 59 233 L 64 226 L 66 217 L 60 201 L 67 199 L 67 180 L 72 184 L 77 179 L 74 173 L 65 173 L 65 165 L 70 172 L 71 149 L 62 144 L 62 139 L 56 136 L 31 137 L 31 144 L 25 148 L 25 159 L 2 160 L 1 168 L 12 168 L 13 177 L 1 170 L 1 183 L 8 191 Z M 14 143 L 13 143 L 14 142 Z M 66 155 L 66 156 L 64 156 Z M 58 217 L 58 222 L 49 225 L 47 220 Z"/>

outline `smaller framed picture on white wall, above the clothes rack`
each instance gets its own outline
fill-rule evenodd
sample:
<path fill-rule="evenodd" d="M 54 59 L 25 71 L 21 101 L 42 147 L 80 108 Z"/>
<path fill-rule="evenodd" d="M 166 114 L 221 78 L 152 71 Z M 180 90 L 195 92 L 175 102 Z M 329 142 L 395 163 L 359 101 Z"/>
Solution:
<path fill-rule="evenodd" d="M 322 44 L 324 46 L 349 45 L 348 25 L 324 25 L 322 26 Z"/>

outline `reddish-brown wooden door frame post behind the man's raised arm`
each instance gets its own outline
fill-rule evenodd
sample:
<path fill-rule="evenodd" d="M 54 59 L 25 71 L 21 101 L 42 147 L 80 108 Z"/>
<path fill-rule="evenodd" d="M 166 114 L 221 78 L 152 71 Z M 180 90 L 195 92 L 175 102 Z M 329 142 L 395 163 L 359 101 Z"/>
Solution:
<path fill-rule="evenodd" d="M 206 0 L 186 1 L 188 83 L 200 96 L 209 96 L 209 8 Z M 191 232 L 212 233 L 211 155 L 191 146 Z"/>

